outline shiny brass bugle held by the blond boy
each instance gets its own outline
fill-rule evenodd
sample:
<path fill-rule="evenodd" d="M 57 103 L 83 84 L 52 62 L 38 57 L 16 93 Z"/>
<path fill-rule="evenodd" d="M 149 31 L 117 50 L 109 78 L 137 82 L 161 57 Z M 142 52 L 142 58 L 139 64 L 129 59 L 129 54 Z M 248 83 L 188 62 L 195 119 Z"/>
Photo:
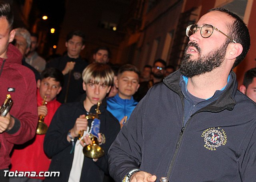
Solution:
<path fill-rule="evenodd" d="M 97 104 L 97 108 L 96 110 L 96 114 L 90 114 L 90 115 L 86 115 L 86 119 L 98 119 L 98 114 L 100 113 L 100 102 L 98 102 Z M 84 131 L 82 130 L 80 132 L 80 138 L 82 138 L 84 134 Z M 100 147 L 99 142 L 98 142 L 98 137 L 90 134 L 89 136 L 92 139 L 92 144 L 86 145 L 83 149 L 83 153 L 84 156 L 92 158 L 92 159 L 96 159 L 96 158 L 100 158 L 104 155 L 104 150 Z"/>

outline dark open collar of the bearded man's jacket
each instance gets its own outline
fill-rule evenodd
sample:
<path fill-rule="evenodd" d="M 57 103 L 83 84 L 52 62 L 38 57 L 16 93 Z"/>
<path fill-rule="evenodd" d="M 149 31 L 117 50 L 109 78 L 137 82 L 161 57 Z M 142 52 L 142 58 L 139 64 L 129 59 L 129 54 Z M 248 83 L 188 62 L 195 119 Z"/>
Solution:
<path fill-rule="evenodd" d="M 200 109 L 198 112 L 201 111 L 211 111 L 211 112 L 220 112 L 222 110 L 233 110 L 234 106 L 236 105 L 236 100 L 234 99 L 237 91 L 237 82 L 236 82 L 236 74 L 231 71 L 232 76 L 232 83 L 228 84 L 224 92 L 219 96 L 219 98 L 210 103 L 208 106 Z M 180 70 L 177 70 L 170 74 L 169 76 L 166 76 L 164 78 L 164 84 L 170 88 L 172 91 L 174 91 L 176 94 L 178 94 L 182 100 L 182 105 L 184 106 L 184 95 L 182 94 L 179 82 L 180 82 L 180 76 L 181 76 Z M 196 113 L 198 113 L 196 112 Z"/>

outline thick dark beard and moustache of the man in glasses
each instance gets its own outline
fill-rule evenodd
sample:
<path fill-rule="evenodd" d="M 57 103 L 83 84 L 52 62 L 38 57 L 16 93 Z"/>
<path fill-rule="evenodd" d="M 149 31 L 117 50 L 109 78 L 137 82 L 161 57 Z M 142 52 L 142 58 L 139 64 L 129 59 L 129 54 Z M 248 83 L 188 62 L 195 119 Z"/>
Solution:
<path fill-rule="evenodd" d="M 180 72 L 191 78 L 196 75 L 201 75 L 206 72 L 211 72 L 214 68 L 218 68 L 222 65 L 225 55 L 226 49 L 228 47 L 228 41 L 226 41 L 220 48 L 211 51 L 207 55 L 201 55 L 201 49 L 197 43 L 191 42 L 187 45 L 184 55 L 182 57 L 182 61 L 180 64 Z M 187 54 L 186 51 L 188 47 L 195 47 L 198 51 L 199 57 L 197 59 L 191 59 L 191 54 Z"/>

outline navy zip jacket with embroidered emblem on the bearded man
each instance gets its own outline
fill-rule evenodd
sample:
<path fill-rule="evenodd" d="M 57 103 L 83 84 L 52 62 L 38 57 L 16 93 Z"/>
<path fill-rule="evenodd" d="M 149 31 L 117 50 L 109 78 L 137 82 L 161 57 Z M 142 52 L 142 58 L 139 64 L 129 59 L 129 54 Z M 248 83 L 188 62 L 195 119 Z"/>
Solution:
<path fill-rule="evenodd" d="M 110 175 L 134 168 L 170 182 L 255 182 L 256 104 L 237 90 L 236 75 L 219 98 L 185 127 L 180 71 L 139 102 L 110 147 Z"/>

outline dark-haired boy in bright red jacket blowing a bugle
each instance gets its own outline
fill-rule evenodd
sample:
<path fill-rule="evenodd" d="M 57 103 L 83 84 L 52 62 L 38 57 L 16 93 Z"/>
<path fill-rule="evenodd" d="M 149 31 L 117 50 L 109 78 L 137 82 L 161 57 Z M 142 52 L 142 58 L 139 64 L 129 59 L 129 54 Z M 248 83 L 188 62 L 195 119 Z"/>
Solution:
<path fill-rule="evenodd" d="M 38 116 L 45 116 L 44 123 L 47 126 L 50 125 L 54 113 L 60 106 L 60 102 L 56 100 L 56 95 L 60 92 L 63 82 L 63 74 L 56 68 L 44 70 L 41 74 L 41 80 L 37 81 Z M 44 96 L 46 96 L 47 104 L 42 106 Z M 50 159 L 44 153 L 44 136 L 36 135 L 26 144 L 15 146 L 11 157 L 11 171 L 35 171 L 38 176 L 10 177 L 10 182 L 42 182 L 44 180 L 44 176 L 39 175 L 39 172 L 47 171 L 50 165 Z"/>

